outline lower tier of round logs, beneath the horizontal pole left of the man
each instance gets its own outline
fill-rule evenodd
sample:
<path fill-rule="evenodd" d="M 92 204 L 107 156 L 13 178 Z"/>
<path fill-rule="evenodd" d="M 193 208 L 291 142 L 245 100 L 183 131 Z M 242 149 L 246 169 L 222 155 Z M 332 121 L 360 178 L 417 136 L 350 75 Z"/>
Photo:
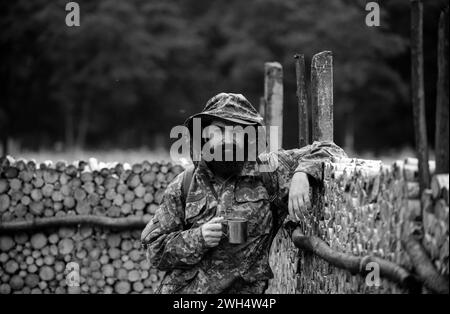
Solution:
<path fill-rule="evenodd" d="M 139 236 L 91 227 L 1 235 L 0 294 L 153 293 L 163 273 Z"/>

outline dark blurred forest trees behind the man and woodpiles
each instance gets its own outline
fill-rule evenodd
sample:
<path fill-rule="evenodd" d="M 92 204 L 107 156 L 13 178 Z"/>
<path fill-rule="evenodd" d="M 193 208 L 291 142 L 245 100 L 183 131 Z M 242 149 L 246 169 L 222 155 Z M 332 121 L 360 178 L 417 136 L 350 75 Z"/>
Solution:
<path fill-rule="evenodd" d="M 221 91 L 258 107 L 263 64 L 284 67 L 284 147 L 297 145 L 293 55 L 334 55 L 335 138 L 348 150 L 413 145 L 409 1 L 78 1 L 67 27 L 60 0 L 2 1 L 0 135 L 21 147 L 169 146 L 175 124 Z M 426 106 L 433 143 L 437 23 L 424 3 Z"/>

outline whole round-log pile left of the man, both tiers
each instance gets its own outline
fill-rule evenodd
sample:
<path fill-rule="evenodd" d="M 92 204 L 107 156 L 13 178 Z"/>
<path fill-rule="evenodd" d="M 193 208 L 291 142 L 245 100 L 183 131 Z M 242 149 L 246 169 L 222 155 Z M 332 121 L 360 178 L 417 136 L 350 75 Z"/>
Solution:
<path fill-rule="evenodd" d="M 36 164 L 2 158 L 0 294 L 153 293 L 163 273 L 146 261 L 143 227 L 136 226 L 151 219 L 167 184 L 182 170 L 165 162 Z M 84 217 L 121 228 L 58 225 Z M 38 230 L 23 228 L 48 221 Z M 134 222 L 129 230 L 127 221 Z M 68 286 L 69 265 L 79 267 L 78 287 Z"/>

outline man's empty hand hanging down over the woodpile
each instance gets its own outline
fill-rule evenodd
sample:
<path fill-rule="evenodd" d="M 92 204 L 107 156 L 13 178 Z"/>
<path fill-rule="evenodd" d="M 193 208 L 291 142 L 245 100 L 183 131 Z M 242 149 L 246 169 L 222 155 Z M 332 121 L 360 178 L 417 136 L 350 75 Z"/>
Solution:
<path fill-rule="evenodd" d="M 304 172 L 296 172 L 289 188 L 289 215 L 294 221 L 300 221 L 302 211 L 310 206 L 308 176 Z"/>

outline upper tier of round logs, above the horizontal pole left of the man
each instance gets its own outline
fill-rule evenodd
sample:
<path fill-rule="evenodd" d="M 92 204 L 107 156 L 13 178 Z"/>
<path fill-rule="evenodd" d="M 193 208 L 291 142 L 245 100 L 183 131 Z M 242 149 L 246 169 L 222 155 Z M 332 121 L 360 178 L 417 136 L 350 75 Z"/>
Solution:
<path fill-rule="evenodd" d="M 150 219 L 165 187 L 182 171 L 170 163 L 99 165 L 93 158 L 40 165 L 3 158 L 0 167 L 3 222 L 77 214 Z"/>

